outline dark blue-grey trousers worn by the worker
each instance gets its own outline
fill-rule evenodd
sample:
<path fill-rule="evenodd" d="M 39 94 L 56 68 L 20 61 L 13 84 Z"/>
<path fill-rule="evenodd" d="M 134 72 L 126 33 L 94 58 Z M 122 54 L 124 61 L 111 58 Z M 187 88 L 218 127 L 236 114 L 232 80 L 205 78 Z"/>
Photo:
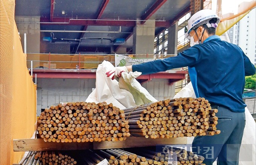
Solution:
<path fill-rule="evenodd" d="M 213 107 L 214 108 L 214 107 Z M 197 136 L 192 143 L 192 151 L 204 156 L 203 163 L 212 165 L 218 157 L 217 165 L 238 165 L 239 150 L 245 127 L 245 113 L 235 113 L 218 107 L 217 130 L 213 136 Z"/>

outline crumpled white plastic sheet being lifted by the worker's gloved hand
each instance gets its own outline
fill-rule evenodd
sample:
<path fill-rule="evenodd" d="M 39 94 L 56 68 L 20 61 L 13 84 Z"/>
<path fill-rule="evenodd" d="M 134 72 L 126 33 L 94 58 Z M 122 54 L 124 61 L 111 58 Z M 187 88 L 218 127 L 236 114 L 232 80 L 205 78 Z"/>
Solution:
<path fill-rule="evenodd" d="M 114 106 L 124 109 L 157 101 L 148 91 L 143 88 L 135 79 L 141 73 L 130 72 L 122 73 L 123 78 L 111 80 L 106 72 L 113 69 L 114 66 L 108 62 L 102 62 L 96 71 L 96 88 L 88 96 L 86 102 L 107 102 Z M 122 89 L 120 89 L 122 88 Z"/>

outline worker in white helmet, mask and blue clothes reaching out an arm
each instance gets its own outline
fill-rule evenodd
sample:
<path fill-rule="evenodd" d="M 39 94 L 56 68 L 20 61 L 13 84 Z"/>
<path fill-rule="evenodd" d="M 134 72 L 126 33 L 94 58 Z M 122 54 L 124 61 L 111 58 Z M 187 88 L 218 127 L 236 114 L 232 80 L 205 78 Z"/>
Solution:
<path fill-rule="evenodd" d="M 218 108 L 217 129 L 221 130 L 218 135 L 195 137 L 193 152 L 204 156 L 206 165 L 212 165 L 217 157 L 219 165 L 238 165 L 245 127 L 242 93 L 245 76 L 254 75 L 255 67 L 239 46 L 215 35 L 218 23 L 219 17 L 212 10 L 200 10 L 185 28 L 189 49 L 176 57 L 115 67 L 107 76 L 113 80 L 114 76 L 121 77 L 122 72 L 138 71 L 145 75 L 188 66 L 197 98 L 206 98 L 213 108 Z"/>

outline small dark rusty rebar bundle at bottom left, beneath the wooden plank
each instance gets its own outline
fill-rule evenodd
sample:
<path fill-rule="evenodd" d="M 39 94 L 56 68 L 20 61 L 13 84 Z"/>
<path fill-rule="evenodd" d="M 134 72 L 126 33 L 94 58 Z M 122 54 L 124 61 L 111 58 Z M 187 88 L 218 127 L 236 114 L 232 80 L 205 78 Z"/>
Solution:
<path fill-rule="evenodd" d="M 76 160 L 68 154 L 58 151 L 40 151 L 35 154 L 35 160 L 39 160 L 42 165 L 75 165 Z"/>

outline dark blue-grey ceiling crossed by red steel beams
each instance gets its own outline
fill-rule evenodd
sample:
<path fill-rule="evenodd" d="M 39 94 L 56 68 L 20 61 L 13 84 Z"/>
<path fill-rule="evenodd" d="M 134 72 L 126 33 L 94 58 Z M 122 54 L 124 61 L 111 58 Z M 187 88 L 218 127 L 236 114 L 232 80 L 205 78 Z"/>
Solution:
<path fill-rule="evenodd" d="M 143 24 L 155 19 L 155 34 L 158 34 L 190 10 L 190 0 L 16 0 L 15 3 L 15 16 L 39 16 L 40 30 L 47 30 L 41 36 L 51 36 L 52 30 L 60 31 L 53 32 L 55 42 L 66 39 L 65 42 L 72 43 L 70 53 L 84 52 L 85 48 L 117 50 L 119 46 L 113 44 L 116 38 L 125 38 L 122 46 L 130 50 L 136 20 L 142 20 Z"/>

